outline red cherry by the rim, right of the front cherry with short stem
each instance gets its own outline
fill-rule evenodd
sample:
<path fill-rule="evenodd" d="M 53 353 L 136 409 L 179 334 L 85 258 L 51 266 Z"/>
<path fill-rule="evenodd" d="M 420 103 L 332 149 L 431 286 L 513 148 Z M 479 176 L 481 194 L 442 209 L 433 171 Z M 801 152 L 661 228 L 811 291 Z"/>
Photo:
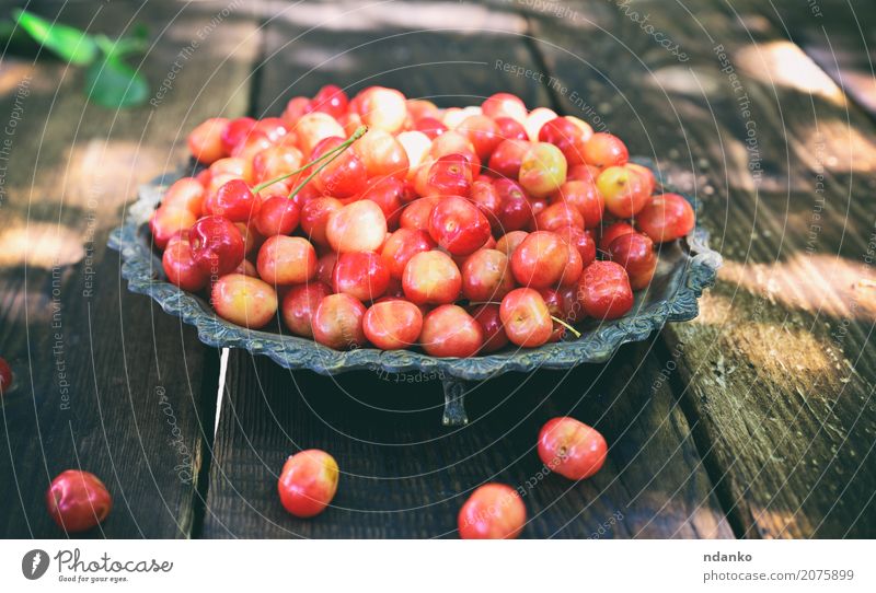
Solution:
<path fill-rule="evenodd" d="M 633 289 L 626 270 L 614 261 L 593 261 L 581 274 L 578 300 L 591 317 L 622 317 L 633 309 Z"/>

